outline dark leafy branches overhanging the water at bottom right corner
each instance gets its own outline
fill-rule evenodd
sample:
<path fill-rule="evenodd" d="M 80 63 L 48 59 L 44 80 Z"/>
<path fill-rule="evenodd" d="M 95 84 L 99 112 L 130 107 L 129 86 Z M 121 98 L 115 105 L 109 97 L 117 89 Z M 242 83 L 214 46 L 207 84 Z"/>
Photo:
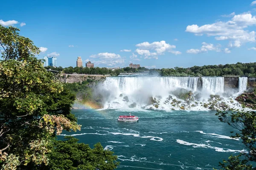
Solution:
<path fill-rule="evenodd" d="M 252 163 L 256 162 L 256 112 L 255 111 L 218 111 L 216 113 L 221 122 L 226 122 L 239 132 L 231 138 L 241 139 L 247 148 L 247 153 L 238 156 L 230 156 L 228 160 L 220 162 L 220 166 L 226 170 L 256 170 Z M 231 132 L 234 133 L 234 132 Z"/>

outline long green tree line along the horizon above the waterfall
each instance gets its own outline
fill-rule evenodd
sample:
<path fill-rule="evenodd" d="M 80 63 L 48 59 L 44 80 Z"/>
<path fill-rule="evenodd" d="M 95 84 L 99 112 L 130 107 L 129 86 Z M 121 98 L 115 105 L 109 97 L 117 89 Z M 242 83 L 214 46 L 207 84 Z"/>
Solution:
<path fill-rule="evenodd" d="M 148 69 L 145 67 L 139 68 L 120 68 L 116 70 L 111 70 L 108 68 L 87 68 L 87 67 L 45 67 L 47 69 L 52 69 L 55 71 L 63 71 L 65 74 L 104 74 L 118 76 L 120 73 L 143 73 L 145 71 L 150 75 L 160 75 L 160 76 L 247 76 L 256 77 L 256 62 L 241 63 L 236 64 L 225 64 L 225 65 L 204 65 L 204 66 L 193 66 L 190 68 L 162 68 L 162 69 Z"/>

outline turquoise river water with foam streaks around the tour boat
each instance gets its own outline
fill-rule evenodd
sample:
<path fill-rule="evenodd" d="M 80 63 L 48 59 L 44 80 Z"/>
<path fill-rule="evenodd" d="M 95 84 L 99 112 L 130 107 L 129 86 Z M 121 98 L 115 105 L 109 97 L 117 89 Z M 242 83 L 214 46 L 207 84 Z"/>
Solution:
<path fill-rule="evenodd" d="M 81 131 L 63 132 L 79 142 L 101 142 L 118 156 L 120 170 L 218 169 L 218 162 L 245 151 L 234 129 L 215 111 L 134 111 L 139 122 L 118 122 L 128 111 L 77 109 Z M 60 136 L 63 138 L 64 136 Z M 126 167 L 124 166 L 126 165 Z"/>

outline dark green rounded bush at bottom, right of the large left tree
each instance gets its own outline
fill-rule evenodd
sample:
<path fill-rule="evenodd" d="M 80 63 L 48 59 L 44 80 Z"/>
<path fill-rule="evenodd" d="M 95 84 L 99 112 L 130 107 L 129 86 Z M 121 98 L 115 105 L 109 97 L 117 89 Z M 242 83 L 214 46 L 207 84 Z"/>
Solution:
<path fill-rule="evenodd" d="M 52 170 L 113 170 L 119 164 L 110 150 L 104 150 L 100 143 L 91 149 L 78 139 L 65 136 L 66 141 L 55 140 L 55 149 L 49 153 L 47 168 Z"/>

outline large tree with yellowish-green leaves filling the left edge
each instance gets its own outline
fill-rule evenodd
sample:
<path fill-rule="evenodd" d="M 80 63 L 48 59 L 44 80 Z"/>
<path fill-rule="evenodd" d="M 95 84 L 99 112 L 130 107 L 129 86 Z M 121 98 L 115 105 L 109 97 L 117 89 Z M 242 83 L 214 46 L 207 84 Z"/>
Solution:
<path fill-rule="evenodd" d="M 61 157 L 66 156 L 64 153 L 54 155 L 61 144 L 61 141 L 55 140 L 56 135 L 62 130 L 76 131 L 81 128 L 70 113 L 75 96 L 46 71 L 42 60 L 35 57 L 40 52 L 39 48 L 17 31 L 17 28 L 0 25 L 0 168 L 52 169 L 48 166 L 50 162 L 61 162 Z M 89 157 L 87 163 L 116 167 L 113 161 L 117 158 L 112 156 L 112 152 L 98 149 L 96 154 L 89 152 L 89 148 L 85 152 L 76 148 L 80 146 L 88 147 L 73 143 L 72 148 Z M 100 144 L 96 146 L 100 148 Z M 49 155 L 51 152 L 53 154 Z M 109 159 L 101 153 L 108 155 Z M 94 157 L 97 159 L 92 159 Z M 84 166 L 83 163 L 81 166 Z"/>

